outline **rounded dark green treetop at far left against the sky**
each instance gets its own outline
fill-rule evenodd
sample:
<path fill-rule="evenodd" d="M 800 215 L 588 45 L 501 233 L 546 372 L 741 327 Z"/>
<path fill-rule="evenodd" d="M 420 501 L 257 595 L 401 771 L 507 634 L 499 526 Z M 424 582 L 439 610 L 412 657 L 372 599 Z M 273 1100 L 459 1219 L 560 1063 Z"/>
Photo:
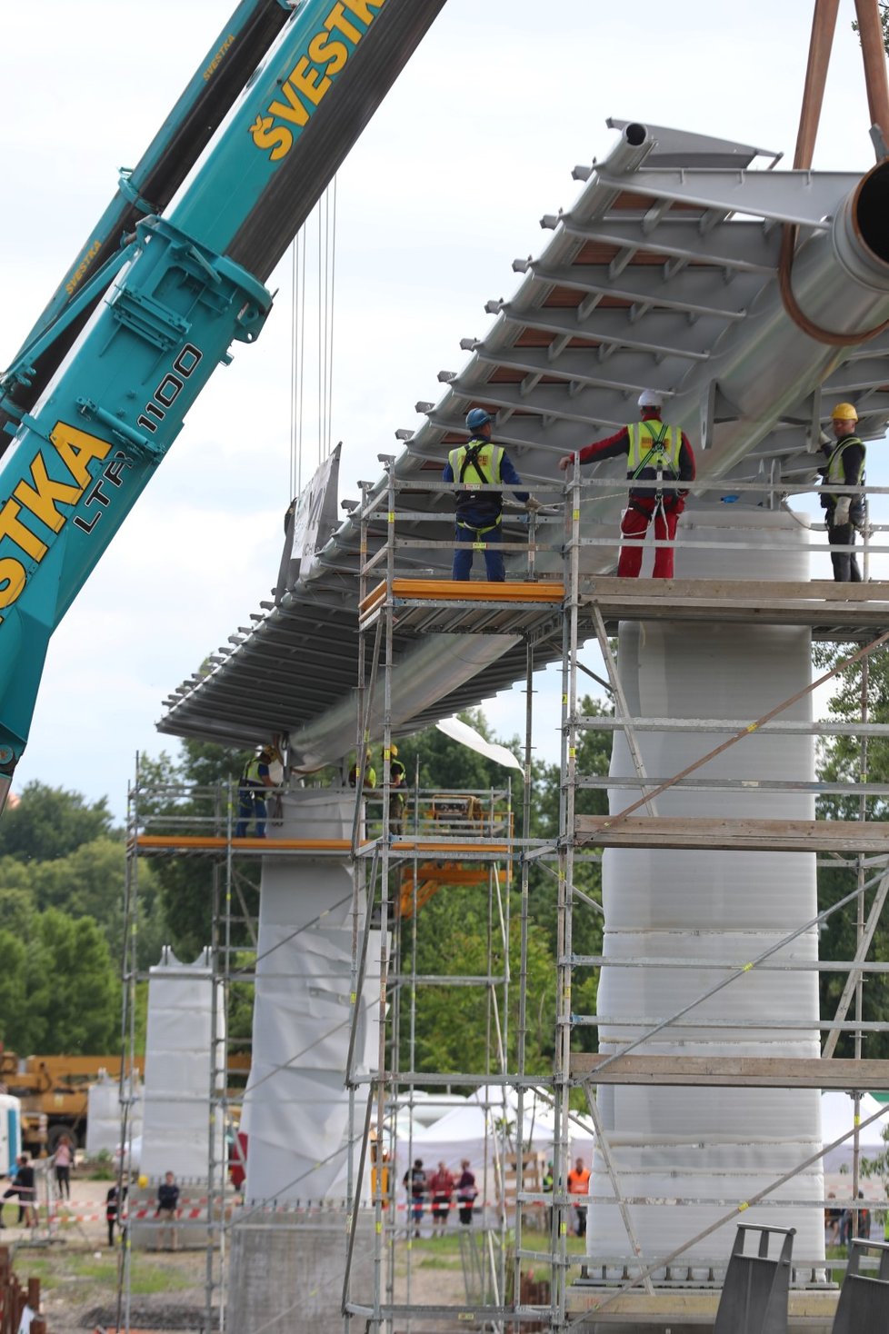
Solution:
<path fill-rule="evenodd" d="M 80 792 L 32 782 L 0 820 L 0 858 L 51 862 L 109 834 L 111 812 L 104 796 L 88 804 Z"/>

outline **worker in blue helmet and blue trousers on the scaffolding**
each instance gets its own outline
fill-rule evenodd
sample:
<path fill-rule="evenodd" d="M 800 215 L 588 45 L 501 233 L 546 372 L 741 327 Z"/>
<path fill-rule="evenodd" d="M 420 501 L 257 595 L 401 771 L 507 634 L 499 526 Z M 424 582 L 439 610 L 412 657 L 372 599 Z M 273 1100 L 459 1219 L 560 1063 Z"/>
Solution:
<path fill-rule="evenodd" d="M 466 415 L 466 428 L 470 438 L 466 444 L 451 450 L 444 464 L 444 482 L 459 482 L 466 486 L 521 487 L 522 479 L 513 467 L 506 450 L 491 440 L 491 414 L 487 408 L 473 408 Z M 539 510 L 539 503 L 527 491 L 514 491 L 529 511 Z M 481 546 L 485 552 L 485 571 L 493 583 L 503 583 L 503 492 L 502 491 L 458 491 L 457 530 L 454 540 L 463 543 L 454 552 L 451 578 L 467 580 L 473 570 L 473 546 Z M 473 543 L 469 546 L 467 543 Z"/>

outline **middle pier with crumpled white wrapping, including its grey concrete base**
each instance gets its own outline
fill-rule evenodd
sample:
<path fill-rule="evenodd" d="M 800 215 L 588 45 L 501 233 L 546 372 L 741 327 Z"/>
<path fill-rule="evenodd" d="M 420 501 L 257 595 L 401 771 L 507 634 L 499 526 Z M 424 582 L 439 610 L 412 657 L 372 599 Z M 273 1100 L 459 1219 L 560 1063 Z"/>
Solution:
<path fill-rule="evenodd" d="M 318 788 L 284 795 L 268 840 L 351 839 L 355 796 Z M 282 1293 L 299 1291 L 287 1327 L 310 1330 L 336 1318 L 350 1193 L 350 1091 L 354 932 L 364 930 L 348 855 L 264 858 L 250 1081 L 246 1209 L 231 1234 L 228 1321 L 266 1329 L 280 1319 Z M 359 996 L 354 1074 L 374 1065 L 379 1043 L 378 931 L 370 932 Z M 366 1091 L 356 1097 L 364 1099 Z M 363 1102 L 362 1111 L 363 1117 Z M 275 1282 L 268 1282 L 270 1273 Z"/>

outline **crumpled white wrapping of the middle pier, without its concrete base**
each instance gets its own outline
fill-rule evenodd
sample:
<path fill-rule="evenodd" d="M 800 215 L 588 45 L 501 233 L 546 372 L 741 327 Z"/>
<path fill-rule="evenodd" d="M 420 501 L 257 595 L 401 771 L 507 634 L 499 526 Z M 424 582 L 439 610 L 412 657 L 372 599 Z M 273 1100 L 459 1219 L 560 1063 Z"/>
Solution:
<path fill-rule="evenodd" d="M 350 839 L 354 811 L 350 792 L 295 791 L 284 796 L 282 822 L 268 838 Z M 347 1195 L 354 911 L 354 870 L 346 858 L 266 859 L 252 1065 L 242 1119 L 251 1203 Z M 362 911 L 358 930 L 363 924 Z M 372 932 L 368 964 L 355 1043 L 359 1074 L 370 1070 L 379 1041 L 379 932 Z"/>

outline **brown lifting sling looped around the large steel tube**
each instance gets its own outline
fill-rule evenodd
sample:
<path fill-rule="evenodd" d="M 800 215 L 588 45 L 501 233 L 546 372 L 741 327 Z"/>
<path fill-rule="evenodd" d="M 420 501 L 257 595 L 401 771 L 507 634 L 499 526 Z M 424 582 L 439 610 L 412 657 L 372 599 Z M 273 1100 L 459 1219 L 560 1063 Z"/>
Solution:
<path fill-rule="evenodd" d="M 816 0 L 812 17 L 812 37 L 809 41 L 809 61 L 800 112 L 800 132 L 793 159 L 794 171 L 809 171 L 814 143 L 821 119 L 824 87 L 828 77 L 830 48 L 837 25 L 840 0 Z M 886 133 L 889 132 L 889 80 L 886 79 L 886 52 L 884 47 L 882 24 L 877 0 L 856 0 L 858 36 L 864 57 L 865 85 L 868 89 L 868 111 L 870 113 L 870 137 L 877 149 L 877 161 L 888 156 Z M 784 307 L 794 324 L 817 343 L 830 347 L 856 347 L 882 334 L 889 328 L 889 320 L 870 329 L 854 334 L 840 334 L 821 328 L 800 308 L 793 292 L 793 256 L 800 228 L 796 223 L 785 223 L 781 233 L 781 255 L 778 259 L 778 287 Z"/>

